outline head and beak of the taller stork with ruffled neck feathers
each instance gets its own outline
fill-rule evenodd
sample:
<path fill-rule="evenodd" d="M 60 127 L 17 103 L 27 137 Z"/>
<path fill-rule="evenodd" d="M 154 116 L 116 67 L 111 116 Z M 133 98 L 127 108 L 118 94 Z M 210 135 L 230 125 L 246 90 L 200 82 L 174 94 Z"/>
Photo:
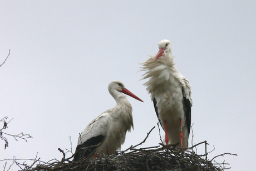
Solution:
<path fill-rule="evenodd" d="M 171 42 L 168 40 L 163 40 L 158 43 L 159 51 L 156 54 L 155 61 L 161 56 L 171 57 Z"/>

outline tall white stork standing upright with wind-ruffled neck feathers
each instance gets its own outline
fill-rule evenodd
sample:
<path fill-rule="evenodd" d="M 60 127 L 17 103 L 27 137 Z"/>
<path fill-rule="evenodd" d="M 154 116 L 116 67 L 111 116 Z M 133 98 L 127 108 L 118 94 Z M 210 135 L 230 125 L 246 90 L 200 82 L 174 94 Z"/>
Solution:
<path fill-rule="evenodd" d="M 191 87 L 189 81 L 174 67 L 171 43 L 159 42 L 159 52 L 141 63 L 141 71 L 147 71 L 142 79 L 151 95 L 157 118 L 165 130 L 165 143 L 180 142 L 180 147 L 188 147 L 191 124 Z"/>

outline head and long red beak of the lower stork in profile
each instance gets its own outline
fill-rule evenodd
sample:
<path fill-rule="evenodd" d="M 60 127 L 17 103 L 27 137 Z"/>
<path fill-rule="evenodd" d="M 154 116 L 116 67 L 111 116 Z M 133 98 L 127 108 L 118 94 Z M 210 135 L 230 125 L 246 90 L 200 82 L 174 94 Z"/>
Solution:
<path fill-rule="evenodd" d="M 130 95 L 131 97 L 143 102 L 139 97 L 137 97 L 135 94 L 133 94 L 132 92 L 130 92 L 128 89 L 125 88 L 125 85 L 119 81 L 119 80 L 114 80 L 112 82 L 109 83 L 109 92 L 110 94 L 116 99 L 115 92 L 121 92 L 124 93 L 126 95 Z"/>

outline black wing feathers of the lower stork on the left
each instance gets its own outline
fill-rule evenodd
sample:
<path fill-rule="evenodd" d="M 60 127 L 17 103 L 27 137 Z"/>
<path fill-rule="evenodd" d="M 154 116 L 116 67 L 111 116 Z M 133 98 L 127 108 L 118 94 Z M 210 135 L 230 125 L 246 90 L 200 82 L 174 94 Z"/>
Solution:
<path fill-rule="evenodd" d="M 85 148 L 85 149 L 82 149 L 82 150 L 80 150 L 80 152 L 76 153 L 73 161 L 78 161 L 82 157 L 87 158 L 96 149 L 96 146 L 93 146 L 93 145 L 98 145 L 99 143 L 102 142 L 102 140 L 104 138 L 105 137 L 103 135 L 98 135 L 96 137 L 92 137 L 92 138 L 88 139 L 83 144 L 77 145 L 76 152 L 78 150 L 80 150 L 81 148 Z M 93 147 L 91 147 L 91 146 L 93 146 Z"/>

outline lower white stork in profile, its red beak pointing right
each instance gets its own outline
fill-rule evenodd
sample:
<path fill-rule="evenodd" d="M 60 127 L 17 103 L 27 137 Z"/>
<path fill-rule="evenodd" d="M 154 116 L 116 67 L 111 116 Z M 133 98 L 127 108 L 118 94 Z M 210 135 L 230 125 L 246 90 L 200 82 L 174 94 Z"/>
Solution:
<path fill-rule="evenodd" d="M 110 82 L 109 93 L 116 100 L 116 106 L 100 114 L 83 130 L 78 138 L 76 152 L 82 149 L 75 154 L 74 161 L 94 152 L 104 152 L 106 155 L 115 153 L 124 144 L 127 130 L 134 128 L 132 107 L 124 94 L 143 101 L 117 80 Z"/>

